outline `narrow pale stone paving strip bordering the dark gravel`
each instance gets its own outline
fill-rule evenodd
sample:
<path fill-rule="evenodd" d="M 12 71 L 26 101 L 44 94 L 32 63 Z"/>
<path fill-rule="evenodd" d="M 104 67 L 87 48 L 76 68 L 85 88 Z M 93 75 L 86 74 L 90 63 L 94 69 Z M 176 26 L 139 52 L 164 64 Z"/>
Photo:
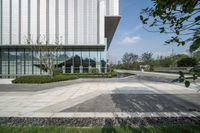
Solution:
<path fill-rule="evenodd" d="M 24 118 L 145 118 L 145 117 L 200 117 L 200 112 L 32 112 L 21 114 L 19 112 L 3 112 L 3 117 Z"/>

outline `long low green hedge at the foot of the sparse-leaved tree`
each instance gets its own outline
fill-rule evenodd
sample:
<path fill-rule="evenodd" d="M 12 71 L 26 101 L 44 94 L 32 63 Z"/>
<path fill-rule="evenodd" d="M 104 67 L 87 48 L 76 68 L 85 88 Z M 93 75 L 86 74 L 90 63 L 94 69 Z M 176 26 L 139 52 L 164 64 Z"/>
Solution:
<path fill-rule="evenodd" d="M 76 75 L 56 75 L 50 76 L 22 76 L 12 81 L 12 83 L 27 83 L 27 84 L 43 84 L 58 81 L 74 80 L 78 77 Z"/>

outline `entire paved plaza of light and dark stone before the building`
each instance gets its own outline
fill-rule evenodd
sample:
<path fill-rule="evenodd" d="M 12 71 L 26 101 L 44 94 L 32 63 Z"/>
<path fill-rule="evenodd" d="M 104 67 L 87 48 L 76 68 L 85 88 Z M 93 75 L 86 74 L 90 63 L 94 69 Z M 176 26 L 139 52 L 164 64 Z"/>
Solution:
<path fill-rule="evenodd" d="M 200 116 L 196 86 L 140 76 L 4 87 L 0 85 L 0 117 Z"/>

